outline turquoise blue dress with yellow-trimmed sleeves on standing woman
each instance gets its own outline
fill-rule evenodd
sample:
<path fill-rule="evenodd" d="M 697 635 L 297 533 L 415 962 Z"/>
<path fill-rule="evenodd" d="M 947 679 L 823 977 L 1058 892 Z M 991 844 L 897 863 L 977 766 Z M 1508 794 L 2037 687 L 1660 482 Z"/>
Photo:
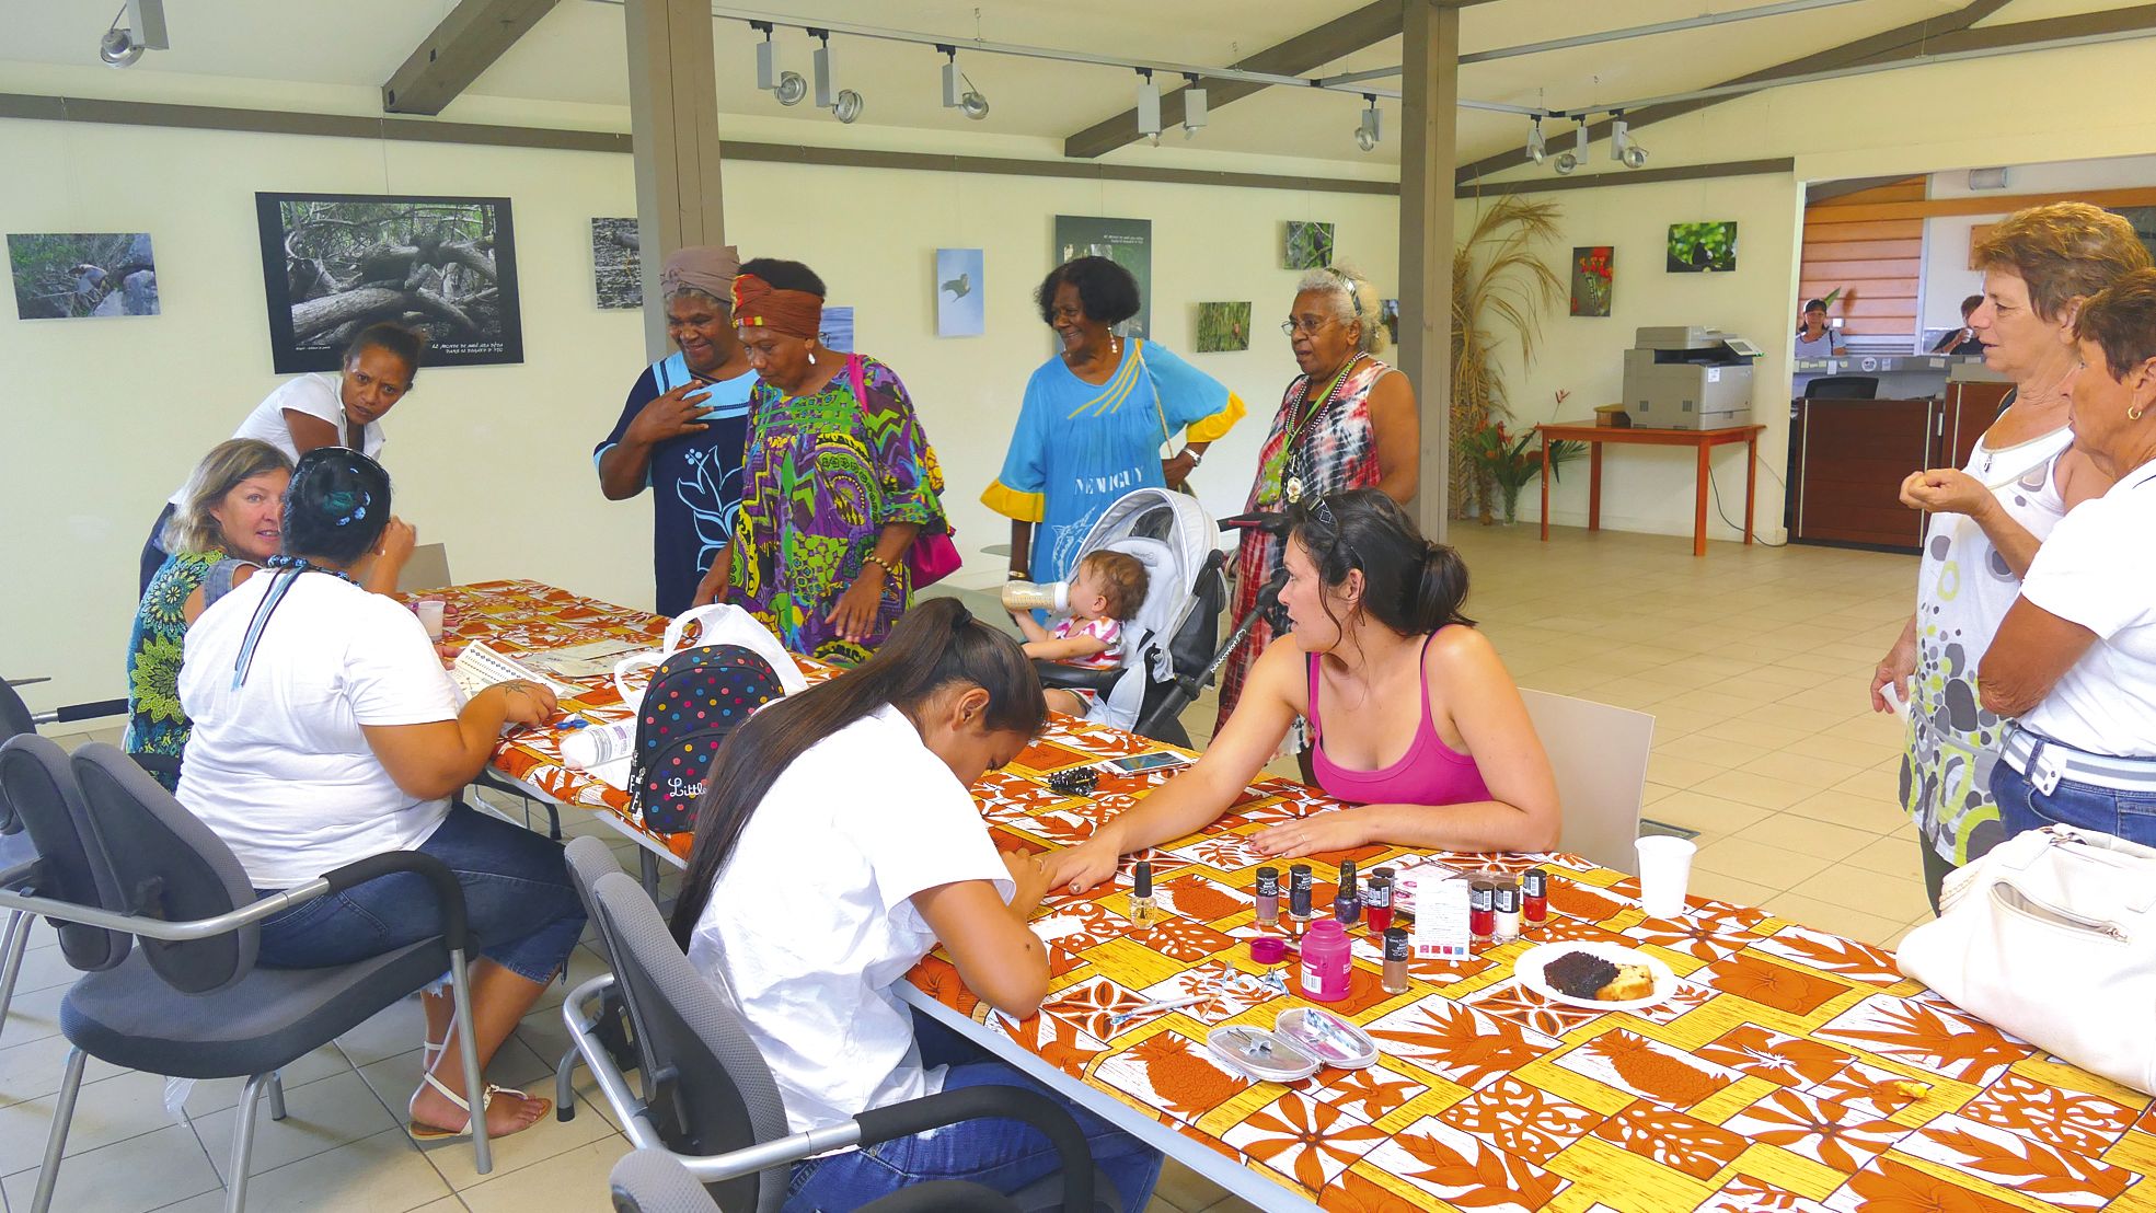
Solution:
<path fill-rule="evenodd" d="M 1093 521 L 1132 489 L 1158 489 L 1160 444 L 1175 431 L 1214 442 L 1244 414 L 1242 396 L 1175 353 L 1130 338 L 1106 384 L 1072 375 L 1050 358 L 1026 379 L 1003 474 L 981 493 L 987 508 L 1037 524 L 1033 580 L 1065 582 Z"/>

